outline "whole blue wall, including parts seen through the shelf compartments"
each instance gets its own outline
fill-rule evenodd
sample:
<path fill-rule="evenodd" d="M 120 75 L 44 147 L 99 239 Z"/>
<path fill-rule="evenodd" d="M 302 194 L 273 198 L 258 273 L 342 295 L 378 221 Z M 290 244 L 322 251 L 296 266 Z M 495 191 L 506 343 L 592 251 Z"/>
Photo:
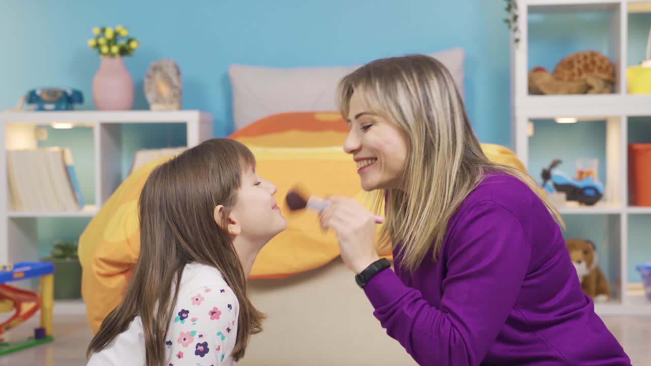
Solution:
<path fill-rule="evenodd" d="M 183 107 L 212 113 L 215 136 L 232 132 L 227 77 L 231 63 L 281 67 L 350 65 L 390 55 L 462 47 L 466 53 L 467 109 L 475 132 L 482 142 L 510 147 L 510 45 L 508 29 L 502 21 L 506 16 L 503 1 L 405 0 L 397 4 L 393 0 L 197 0 L 185 4 L 171 0 L 115 0 L 110 4 L 81 0 L 3 1 L 0 109 L 13 107 L 28 89 L 46 85 L 81 89 L 86 98 L 81 108 L 94 109 L 91 82 L 99 60 L 87 48 L 86 41 L 91 36 L 90 29 L 102 25 L 125 25 L 141 42 L 135 55 L 125 60 L 135 80 L 135 109 L 148 107 L 143 94 L 143 76 L 148 65 L 171 57 L 182 70 Z M 609 53 L 607 21 L 603 13 L 534 15 L 529 25 L 530 66 L 540 64 L 551 70 L 568 53 L 587 48 L 613 56 Z M 629 39 L 629 64 L 643 57 L 649 25 L 651 18 L 647 15 L 630 16 L 634 34 Z M 603 122 L 575 126 L 548 122 L 536 122 L 532 141 L 532 153 L 540 155 L 533 162 L 536 166 L 556 157 L 551 152 L 563 154 L 559 157 L 568 164 L 575 157 L 588 154 L 603 163 Z M 635 135 L 648 131 L 646 126 L 640 122 L 637 128 L 641 132 Z M 166 130 L 151 134 L 138 126 L 125 128 L 121 156 L 124 169 L 128 169 L 137 145 L 162 147 L 183 143 L 176 132 L 173 135 L 169 139 Z M 589 138 L 562 144 L 569 136 L 581 135 Z M 56 132 L 51 131 L 50 137 L 44 145 L 64 143 L 57 139 Z M 83 149 L 82 140 L 70 135 L 64 139 L 74 150 Z M 563 145 L 571 147 L 564 150 Z M 79 171 L 85 164 L 80 154 L 75 157 Z M 600 173 L 604 172 L 605 167 L 600 167 Z M 539 169 L 531 173 L 538 179 Z M 80 180 L 85 199 L 92 200 L 92 177 Z M 57 231 L 54 229 L 62 226 L 59 221 L 40 221 L 43 251 L 51 240 L 79 232 L 84 225 L 83 220 L 70 221 L 65 231 Z M 587 225 L 584 221 L 572 221 L 575 232 L 583 232 Z M 641 232 L 635 228 L 633 231 Z M 636 259 L 651 260 L 651 249 L 642 238 L 631 235 L 631 240 L 636 240 L 631 245 L 640 248 L 635 252 L 639 253 Z M 632 280 L 638 278 L 630 275 Z"/>

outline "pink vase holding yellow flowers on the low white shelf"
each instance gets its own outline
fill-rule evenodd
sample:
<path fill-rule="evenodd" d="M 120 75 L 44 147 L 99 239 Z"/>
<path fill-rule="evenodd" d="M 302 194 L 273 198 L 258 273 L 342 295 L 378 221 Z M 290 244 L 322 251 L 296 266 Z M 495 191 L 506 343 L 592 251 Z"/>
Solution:
<path fill-rule="evenodd" d="M 100 56 L 102 62 L 92 78 L 92 100 L 102 111 L 124 111 L 133 107 L 133 78 L 122 57 Z"/>

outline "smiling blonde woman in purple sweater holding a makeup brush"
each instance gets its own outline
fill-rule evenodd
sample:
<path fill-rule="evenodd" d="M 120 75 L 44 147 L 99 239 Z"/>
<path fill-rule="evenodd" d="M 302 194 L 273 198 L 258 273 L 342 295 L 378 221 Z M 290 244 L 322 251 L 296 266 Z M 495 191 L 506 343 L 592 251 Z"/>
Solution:
<path fill-rule="evenodd" d="M 373 214 L 332 197 L 321 225 L 374 315 L 420 365 L 630 365 L 583 293 L 562 219 L 525 173 L 484 156 L 454 81 L 424 55 L 373 61 L 340 81 L 344 150 L 378 191 Z"/>

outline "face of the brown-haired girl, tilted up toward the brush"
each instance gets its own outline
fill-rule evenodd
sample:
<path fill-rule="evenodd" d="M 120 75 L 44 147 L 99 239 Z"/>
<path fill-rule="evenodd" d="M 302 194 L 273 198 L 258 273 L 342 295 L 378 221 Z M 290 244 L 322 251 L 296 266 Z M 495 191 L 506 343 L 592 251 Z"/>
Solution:
<path fill-rule="evenodd" d="M 230 215 L 240 227 L 239 236 L 248 242 L 266 244 L 287 227 L 273 195 L 277 188 L 249 169 L 242 174 L 237 204 Z"/>

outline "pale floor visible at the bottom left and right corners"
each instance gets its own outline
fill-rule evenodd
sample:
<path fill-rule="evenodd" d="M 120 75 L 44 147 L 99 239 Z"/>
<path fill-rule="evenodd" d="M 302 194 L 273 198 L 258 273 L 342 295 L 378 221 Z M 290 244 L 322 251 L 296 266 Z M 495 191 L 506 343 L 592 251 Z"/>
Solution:
<path fill-rule="evenodd" d="M 606 317 L 603 320 L 622 343 L 633 365 L 651 365 L 651 317 Z M 22 324 L 14 330 L 16 336 L 27 337 L 35 325 L 32 320 Z M 91 337 L 85 317 L 55 317 L 54 333 L 52 343 L 0 356 L 0 366 L 85 365 L 85 350 Z"/>

